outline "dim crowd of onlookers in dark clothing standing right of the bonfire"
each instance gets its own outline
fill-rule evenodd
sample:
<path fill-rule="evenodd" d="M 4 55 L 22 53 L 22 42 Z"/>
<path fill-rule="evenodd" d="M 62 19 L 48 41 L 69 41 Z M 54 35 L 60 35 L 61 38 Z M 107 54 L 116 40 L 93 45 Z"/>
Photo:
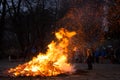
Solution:
<path fill-rule="evenodd" d="M 87 63 L 87 58 L 91 55 L 92 63 L 110 63 L 120 64 L 120 48 L 96 48 L 87 49 L 84 54 L 80 53 L 79 50 L 76 52 L 75 62 L 77 63 Z"/>

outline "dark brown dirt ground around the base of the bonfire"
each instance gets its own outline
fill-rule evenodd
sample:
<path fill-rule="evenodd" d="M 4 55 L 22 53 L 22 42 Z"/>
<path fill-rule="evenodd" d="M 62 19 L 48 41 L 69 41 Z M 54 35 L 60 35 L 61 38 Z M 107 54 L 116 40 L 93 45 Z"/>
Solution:
<path fill-rule="evenodd" d="M 61 74 L 56 77 L 10 77 L 3 71 L 22 64 L 21 61 L 0 60 L 0 80 L 120 80 L 120 64 L 93 64 L 93 70 L 87 70 L 87 64 L 75 63 L 74 74 Z"/>

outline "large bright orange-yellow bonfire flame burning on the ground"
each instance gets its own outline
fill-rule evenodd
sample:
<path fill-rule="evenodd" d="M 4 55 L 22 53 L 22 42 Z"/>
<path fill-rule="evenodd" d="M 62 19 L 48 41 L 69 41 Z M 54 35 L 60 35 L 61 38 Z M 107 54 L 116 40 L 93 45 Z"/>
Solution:
<path fill-rule="evenodd" d="M 74 72 L 74 67 L 68 63 L 68 45 L 69 39 L 75 34 L 61 28 L 55 33 L 57 41 L 48 45 L 46 54 L 39 53 L 31 61 L 11 68 L 8 72 L 14 76 L 56 76 Z"/>

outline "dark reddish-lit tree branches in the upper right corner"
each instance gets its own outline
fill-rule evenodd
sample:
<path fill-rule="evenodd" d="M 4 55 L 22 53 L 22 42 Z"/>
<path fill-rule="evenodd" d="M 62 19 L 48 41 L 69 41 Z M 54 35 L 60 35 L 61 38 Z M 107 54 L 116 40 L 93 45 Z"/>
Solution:
<path fill-rule="evenodd" d="M 108 9 L 108 26 L 109 31 L 107 33 L 107 36 L 111 39 L 120 39 L 120 1 L 114 0 L 109 1 L 109 9 Z"/>

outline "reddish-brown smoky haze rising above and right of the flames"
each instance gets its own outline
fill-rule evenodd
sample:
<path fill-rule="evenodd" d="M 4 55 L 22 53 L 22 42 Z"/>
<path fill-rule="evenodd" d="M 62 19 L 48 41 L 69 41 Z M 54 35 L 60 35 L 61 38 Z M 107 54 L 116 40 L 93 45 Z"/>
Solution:
<path fill-rule="evenodd" d="M 96 4 L 95 4 L 96 3 Z M 103 39 L 103 7 L 101 3 L 84 3 L 85 5 L 69 8 L 57 25 L 68 30 L 76 31 L 77 35 L 71 40 L 71 48 L 95 48 Z"/>

